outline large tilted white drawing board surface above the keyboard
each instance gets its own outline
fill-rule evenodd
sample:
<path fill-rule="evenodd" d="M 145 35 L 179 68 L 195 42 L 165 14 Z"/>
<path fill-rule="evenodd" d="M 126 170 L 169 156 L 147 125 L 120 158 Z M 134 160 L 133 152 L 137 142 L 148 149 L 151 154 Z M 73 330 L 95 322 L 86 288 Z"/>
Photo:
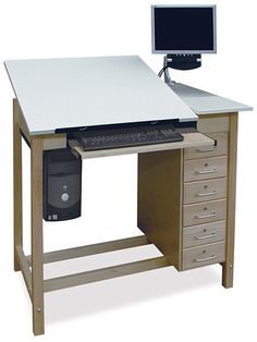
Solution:
<path fill-rule="evenodd" d="M 7 61 L 29 133 L 197 115 L 139 57 Z"/>

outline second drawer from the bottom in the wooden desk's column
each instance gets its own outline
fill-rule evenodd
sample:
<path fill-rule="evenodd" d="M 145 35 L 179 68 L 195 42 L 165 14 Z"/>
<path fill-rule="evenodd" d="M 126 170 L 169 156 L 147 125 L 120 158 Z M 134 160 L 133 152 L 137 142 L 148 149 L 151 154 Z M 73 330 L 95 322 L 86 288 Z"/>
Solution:
<path fill-rule="evenodd" d="M 218 221 L 183 229 L 183 248 L 225 240 L 225 221 Z"/>

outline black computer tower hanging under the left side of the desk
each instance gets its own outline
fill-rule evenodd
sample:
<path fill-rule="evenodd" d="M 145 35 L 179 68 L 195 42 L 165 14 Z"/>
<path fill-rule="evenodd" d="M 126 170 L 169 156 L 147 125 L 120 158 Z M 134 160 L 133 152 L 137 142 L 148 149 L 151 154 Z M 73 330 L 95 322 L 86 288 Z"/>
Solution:
<path fill-rule="evenodd" d="M 46 221 L 81 216 L 82 160 L 68 148 L 44 151 L 42 211 Z"/>

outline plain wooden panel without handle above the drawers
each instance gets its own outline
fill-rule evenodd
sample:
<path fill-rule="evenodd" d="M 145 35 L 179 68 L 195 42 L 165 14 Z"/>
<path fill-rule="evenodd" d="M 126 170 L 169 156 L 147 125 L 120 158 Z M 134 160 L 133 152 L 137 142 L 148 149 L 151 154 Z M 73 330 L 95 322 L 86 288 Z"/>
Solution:
<path fill-rule="evenodd" d="M 216 133 L 229 131 L 229 115 L 210 117 L 200 115 L 197 121 L 197 130 L 201 133 Z"/>

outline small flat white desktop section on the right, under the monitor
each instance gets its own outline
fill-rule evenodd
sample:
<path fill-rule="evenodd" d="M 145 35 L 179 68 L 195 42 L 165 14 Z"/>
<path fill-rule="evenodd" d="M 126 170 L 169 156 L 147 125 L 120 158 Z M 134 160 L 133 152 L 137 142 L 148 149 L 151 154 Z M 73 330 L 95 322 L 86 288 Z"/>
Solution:
<path fill-rule="evenodd" d="M 229 113 L 253 110 L 252 107 L 235 102 L 228 98 L 217 96 L 187 85 L 176 83 L 170 85 L 183 101 L 194 110 L 196 114 Z"/>

